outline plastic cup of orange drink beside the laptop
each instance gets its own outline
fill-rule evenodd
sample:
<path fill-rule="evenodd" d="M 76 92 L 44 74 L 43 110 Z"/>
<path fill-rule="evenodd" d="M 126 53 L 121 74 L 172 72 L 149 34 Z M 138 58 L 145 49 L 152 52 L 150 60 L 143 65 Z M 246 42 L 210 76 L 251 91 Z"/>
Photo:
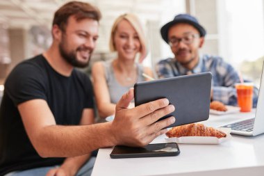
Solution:
<path fill-rule="evenodd" d="M 236 93 L 238 94 L 238 106 L 240 106 L 240 112 L 250 112 L 253 104 L 253 84 L 237 83 Z"/>

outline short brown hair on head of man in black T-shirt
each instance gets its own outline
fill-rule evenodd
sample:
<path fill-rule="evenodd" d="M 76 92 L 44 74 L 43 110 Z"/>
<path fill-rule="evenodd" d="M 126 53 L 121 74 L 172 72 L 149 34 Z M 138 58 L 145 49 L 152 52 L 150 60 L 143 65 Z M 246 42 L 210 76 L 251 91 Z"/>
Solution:
<path fill-rule="evenodd" d="M 67 21 L 72 15 L 74 15 L 77 21 L 90 18 L 99 22 L 101 19 L 101 12 L 97 7 L 92 6 L 90 3 L 70 1 L 56 11 L 52 25 L 57 24 L 60 30 L 65 31 Z"/>

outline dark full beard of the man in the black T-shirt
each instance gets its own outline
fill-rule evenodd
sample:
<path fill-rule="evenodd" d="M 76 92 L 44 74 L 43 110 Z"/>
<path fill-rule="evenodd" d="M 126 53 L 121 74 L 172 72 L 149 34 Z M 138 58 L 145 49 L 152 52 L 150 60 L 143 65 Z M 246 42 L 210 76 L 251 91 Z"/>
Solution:
<path fill-rule="evenodd" d="M 87 47 L 78 47 L 76 49 L 76 51 L 69 51 L 67 52 L 67 50 L 65 49 L 65 41 L 60 42 L 59 44 L 59 51 L 60 51 L 60 55 L 63 56 L 63 58 L 65 59 L 65 61 L 67 61 L 67 63 L 69 63 L 70 65 L 74 66 L 74 67 L 87 67 L 90 63 L 90 58 L 91 55 L 88 58 L 88 61 L 86 63 L 83 63 L 81 61 L 78 61 L 77 59 L 77 51 L 81 51 L 81 50 L 90 50 Z M 91 52 L 92 53 L 92 52 Z"/>

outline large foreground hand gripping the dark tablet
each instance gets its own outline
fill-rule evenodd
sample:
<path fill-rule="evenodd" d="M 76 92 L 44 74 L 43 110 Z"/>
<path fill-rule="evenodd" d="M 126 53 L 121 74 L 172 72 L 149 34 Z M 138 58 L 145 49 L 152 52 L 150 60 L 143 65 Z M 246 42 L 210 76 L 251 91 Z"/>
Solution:
<path fill-rule="evenodd" d="M 169 105 L 168 99 L 158 99 L 127 109 L 133 97 L 133 88 L 131 88 L 117 103 L 115 119 L 111 127 L 117 145 L 147 145 L 167 131 L 163 128 L 175 122 L 174 117 L 156 122 L 174 111 L 175 108 L 172 104 Z"/>

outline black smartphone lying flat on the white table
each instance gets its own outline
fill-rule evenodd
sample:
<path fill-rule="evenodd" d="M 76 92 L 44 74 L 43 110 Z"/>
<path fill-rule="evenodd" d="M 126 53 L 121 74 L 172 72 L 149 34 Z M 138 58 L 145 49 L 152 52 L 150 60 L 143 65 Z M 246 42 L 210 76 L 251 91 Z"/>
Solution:
<path fill-rule="evenodd" d="M 140 157 L 170 157 L 180 153 L 177 143 L 154 143 L 145 147 L 127 147 L 117 145 L 110 153 L 112 159 Z"/>

